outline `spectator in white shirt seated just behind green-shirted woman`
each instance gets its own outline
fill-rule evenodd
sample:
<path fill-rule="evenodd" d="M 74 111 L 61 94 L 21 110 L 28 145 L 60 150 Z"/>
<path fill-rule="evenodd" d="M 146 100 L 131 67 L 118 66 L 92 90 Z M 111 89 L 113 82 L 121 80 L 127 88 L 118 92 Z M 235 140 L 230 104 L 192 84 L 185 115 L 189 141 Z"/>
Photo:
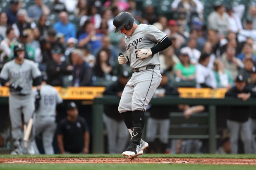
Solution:
<path fill-rule="evenodd" d="M 189 59 L 192 64 L 197 64 L 201 56 L 201 52 L 196 49 L 197 40 L 195 38 L 189 38 L 187 42 L 187 47 L 180 49 L 181 53 L 189 54 Z"/>

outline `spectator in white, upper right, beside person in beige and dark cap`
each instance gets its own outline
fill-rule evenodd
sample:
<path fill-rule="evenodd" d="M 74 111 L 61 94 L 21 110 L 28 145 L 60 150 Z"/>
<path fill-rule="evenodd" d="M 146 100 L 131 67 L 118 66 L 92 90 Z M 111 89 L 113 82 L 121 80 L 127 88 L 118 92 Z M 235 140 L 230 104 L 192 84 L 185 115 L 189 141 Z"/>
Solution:
<path fill-rule="evenodd" d="M 228 14 L 228 21 L 229 21 L 229 30 L 234 33 L 237 33 L 239 30 L 243 29 L 241 19 L 239 16 L 234 12 L 232 5 L 226 5 L 226 10 Z"/>

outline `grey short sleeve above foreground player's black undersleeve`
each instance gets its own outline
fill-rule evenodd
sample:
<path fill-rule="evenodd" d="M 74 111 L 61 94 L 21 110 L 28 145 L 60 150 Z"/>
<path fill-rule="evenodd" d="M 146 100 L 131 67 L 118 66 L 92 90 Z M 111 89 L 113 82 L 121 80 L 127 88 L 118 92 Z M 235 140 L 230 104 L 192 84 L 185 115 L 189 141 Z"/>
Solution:
<path fill-rule="evenodd" d="M 165 33 L 158 30 L 155 26 L 148 25 L 146 29 L 146 36 L 149 40 L 155 42 L 156 44 L 162 42 L 166 37 L 168 37 Z"/>

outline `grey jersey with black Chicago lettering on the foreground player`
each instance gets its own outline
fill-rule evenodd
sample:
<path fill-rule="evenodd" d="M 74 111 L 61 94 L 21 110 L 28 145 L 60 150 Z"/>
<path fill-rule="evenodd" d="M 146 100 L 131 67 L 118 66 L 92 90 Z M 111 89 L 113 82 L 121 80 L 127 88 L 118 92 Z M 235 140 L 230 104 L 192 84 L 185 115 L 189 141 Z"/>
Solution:
<path fill-rule="evenodd" d="M 131 68 L 140 68 L 146 65 L 160 65 L 159 53 L 140 59 L 136 50 L 150 49 L 159 42 L 162 42 L 167 35 L 158 30 L 155 26 L 140 24 L 130 37 L 125 36 L 125 47 Z"/>

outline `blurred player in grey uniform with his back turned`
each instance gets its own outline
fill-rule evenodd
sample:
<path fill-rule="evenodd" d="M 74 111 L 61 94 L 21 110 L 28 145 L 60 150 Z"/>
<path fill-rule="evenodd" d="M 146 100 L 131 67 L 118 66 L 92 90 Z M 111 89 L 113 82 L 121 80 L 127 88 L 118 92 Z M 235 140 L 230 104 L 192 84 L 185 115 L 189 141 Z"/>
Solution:
<path fill-rule="evenodd" d="M 54 154 L 53 137 L 56 130 L 56 106 L 61 104 L 63 100 L 53 86 L 46 84 L 47 80 L 48 77 L 46 73 L 42 72 L 42 85 L 40 90 L 41 100 L 36 104 L 36 106 L 38 105 L 38 108 L 36 109 L 35 136 L 42 133 L 45 154 Z M 34 88 L 34 95 L 36 95 L 36 91 L 37 89 Z M 35 152 L 36 154 L 40 154 L 36 145 Z"/>

